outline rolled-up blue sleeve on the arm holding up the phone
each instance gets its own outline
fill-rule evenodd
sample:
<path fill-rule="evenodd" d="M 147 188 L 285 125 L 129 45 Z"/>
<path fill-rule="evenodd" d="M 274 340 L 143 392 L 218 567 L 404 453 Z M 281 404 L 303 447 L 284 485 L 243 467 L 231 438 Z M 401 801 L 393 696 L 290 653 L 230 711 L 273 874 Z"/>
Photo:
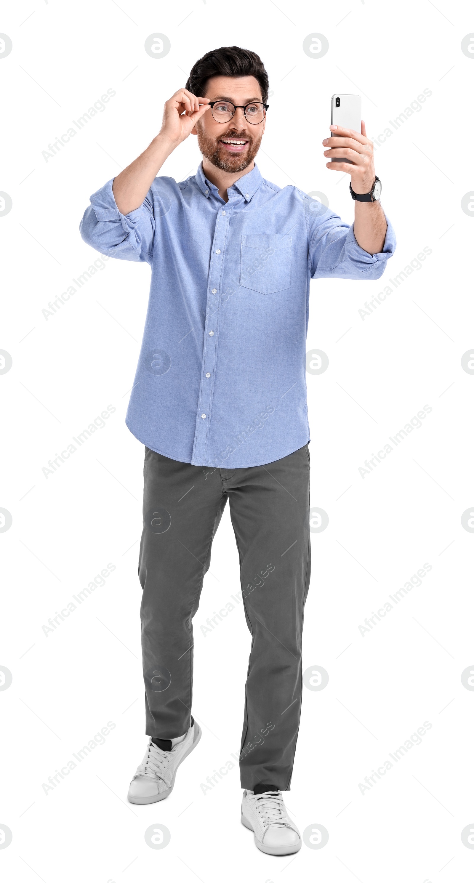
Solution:
<path fill-rule="evenodd" d="M 309 261 L 312 279 L 335 276 L 345 279 L 379 279 L 388 258 L 395 252 L 395 230 L 387 218 L 383 251 L 370 254 L 357 243 L 354 224 L 326 213 L 315 218 L 310 230 Z"/>

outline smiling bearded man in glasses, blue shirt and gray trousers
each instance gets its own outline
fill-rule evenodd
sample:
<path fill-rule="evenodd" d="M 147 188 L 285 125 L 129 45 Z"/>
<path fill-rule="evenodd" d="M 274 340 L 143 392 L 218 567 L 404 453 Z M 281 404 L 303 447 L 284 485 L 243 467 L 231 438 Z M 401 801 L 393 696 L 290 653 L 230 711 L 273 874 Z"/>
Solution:
<path fill-rule="evenodd" d="M 152 268 L 126 416 L 146 446 L 139 579 L 150 741 L 128 799 L 150 804 L 169 796 L 177 766 L 199 742 L 192 617 L 229 498 L 252 633 L 241 820 L 259 849 L 286 855 L 301 847 L 282 791 L 290 789 L 297 743 L 311 564 L 310 279 L 378 279 L 395 235 L 374 199 L 365 125 L 362 134 L 340 130 L 339 139 L 323 141 L 327 158 L 354 163 L 327 162 L 350 173 L 352 227 L 297 187 L 261 177 L 254 157 L 267 94 L 255 53 L 236 46 L 207 52 L 166 102 L 147 150 L 93 194 L 80 231 L 98 251 Z M 305 137 L 311 112 L 306 95 L 286 102 L 278 124 L 285 137 L 295 127 Z M 190 134 L 203 156 L 196 175 L 178 184 L 156 177 Z"/>

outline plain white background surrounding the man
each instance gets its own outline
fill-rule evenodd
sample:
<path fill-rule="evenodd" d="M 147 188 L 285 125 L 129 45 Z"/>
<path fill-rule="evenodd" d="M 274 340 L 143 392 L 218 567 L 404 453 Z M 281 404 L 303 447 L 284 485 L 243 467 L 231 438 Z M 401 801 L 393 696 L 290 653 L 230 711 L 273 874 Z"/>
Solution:
<path fill-rule="evenodd" d="M 0 217 L 4 292 L 0 348 L 3 483 L 12 516 L 4 559 L 0 664 L 4 706 L 0 849 L 5 880 L 462 881 L 474 851 L 472 705 L 461 674 L 474 663 L 472 545 L 461 516 L 474 503 L 472 386 L 461 358 L 473 344 L 474 59 L 461 41 L 468 4 L 430 0 L 337 4 L 271 0 L 173 4 L 25 0 L 4 7 L 0 57 L 4 158 Z M 171 49 L 153 59 L 149 34 Z M 325 57 L 303 41 L 324 34 Z M 242 607 L 204 637 L 207 616 L 239 592 L 229 508 L 214 541 L 194 620 L 194 705 L 203 737 L 168 800 L 132 806 L 126 792 L 147 743 L 137 575 L 143 446 L 124 425 L 147 308 L 147 265 L 109 260 L 46 320 L 41 311 L 99 257 L 79 237 L 89 196 L 139 155 L 159 130 L 163 102 L 208 49 L 236 43 L 267 66 L 270 110 L 257 158 L 278 185 L 327 194 L 353 219 L 349 178 L 326 169 L 330 97 L 362 94 L 382 204 L 398 246 L 378 282 L 312 283 L 308 349 L 327 353 L 307 375 L 312 506 L 329 524 L 312 534 L 304 670 L 327 669 L 304 689 L 287 805 L 303 832 L 327 828 L 323 849 L 268 857 L 240 824 L 237 764 L 214 789 L 200 783 L 238 753 L 251 637 Z M 116 95 L 48 162 L 41 155 L 107 91 Z M 393 120 L 424 89 L 422 109 Z M 199 164 L 194 138 L 162 174 Z M 429 246 L 433 253 L 364 321 L 358 310 Z M 117 409 L 46 479 L 41 468 L 108 405 Z M 425 405 L 433 411 L 365 478 L 358 467 Z M 42 625 L 108 562 L 116 570 L 45 636 Z M 369 633 L 358 626 L 425 562 L 432 570 Z M 108 721 L 116 727 L 64 781 L 55 774 Z M 372 788 L 358 785 L 429 721 L 422 743 Z M 148 826 L 169 845 L 150 849 Z"/>

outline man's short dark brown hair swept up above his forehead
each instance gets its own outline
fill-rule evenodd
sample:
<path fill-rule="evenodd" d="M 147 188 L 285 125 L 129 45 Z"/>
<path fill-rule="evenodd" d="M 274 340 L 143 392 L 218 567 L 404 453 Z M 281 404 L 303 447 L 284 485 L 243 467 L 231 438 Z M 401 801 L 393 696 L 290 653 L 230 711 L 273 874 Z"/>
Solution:
<path fill-rule="evenodd" d="M 204 98 L 207 80 L 211 77 L 255 77 L 260 84 L 262 102 L 267 102 L 268 74 L 261 58 L 250 49 L 239 46 L 211 49 L 193 64 L 186 89 L 198 98 Z"/>

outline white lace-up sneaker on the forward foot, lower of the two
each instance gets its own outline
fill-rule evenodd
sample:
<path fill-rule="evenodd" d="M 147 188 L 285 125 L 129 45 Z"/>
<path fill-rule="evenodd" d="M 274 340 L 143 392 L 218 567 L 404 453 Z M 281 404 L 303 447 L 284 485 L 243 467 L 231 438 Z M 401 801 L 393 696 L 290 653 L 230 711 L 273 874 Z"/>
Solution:
<path fill-rule="evenodd" d="M 301 849 L 301 835 L 289 818 L 281 791 L 244 791 L 240 821 L 253 831 L 255 846 L 269 856 L 289 856 Z"/>

